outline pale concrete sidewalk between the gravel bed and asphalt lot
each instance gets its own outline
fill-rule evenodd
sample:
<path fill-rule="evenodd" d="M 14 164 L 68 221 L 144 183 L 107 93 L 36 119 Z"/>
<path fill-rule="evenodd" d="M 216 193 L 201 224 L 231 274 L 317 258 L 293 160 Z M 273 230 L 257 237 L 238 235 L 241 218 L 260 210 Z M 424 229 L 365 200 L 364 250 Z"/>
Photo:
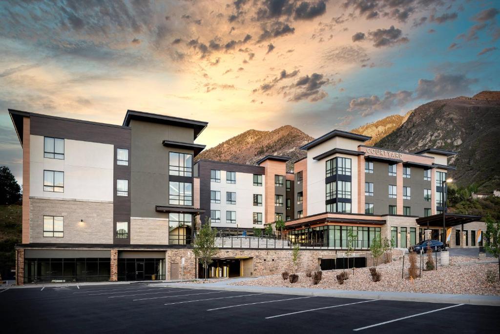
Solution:
<path fill-rule="evenodd" d="M 215 289 L 238 292 L 260 292 L 279 293 L 305 296 L 322 296 L 338 298 L 360 298 L 360 299 L 385 299 L 401 301 L 422 301 L 450 304 L 473 304 L 500 306 L 500 296 L 475 295 L 475 294 L 440 294 L 440 293 L 417 293 L 417 292 L 385 292 L 385 291 L 359 291 L 359 290 L 334 290 L 314 289 L 298 287 L 276 287 L 276 286 L 242 286 L 228 285 L 238 281 L 251 280 L 254 278 L 231 278 L 214 283 L 159 283 L 155 286 L 184 287 L 190 289 Z"/>

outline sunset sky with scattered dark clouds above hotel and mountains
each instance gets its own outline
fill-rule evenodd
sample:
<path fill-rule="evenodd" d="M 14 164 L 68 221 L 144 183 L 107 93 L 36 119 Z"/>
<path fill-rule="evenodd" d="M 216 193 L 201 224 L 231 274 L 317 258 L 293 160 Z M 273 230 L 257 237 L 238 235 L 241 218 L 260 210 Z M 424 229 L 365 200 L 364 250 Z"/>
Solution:
<path fill-rule="evenodd" d="M 6 0 L 0 15 L 0 165 L 20 184 L 8 108 L 206 121 L 196 143 L 212 147 L 283 125 L 318 137 L 500 90 L 497 1 Z"/>

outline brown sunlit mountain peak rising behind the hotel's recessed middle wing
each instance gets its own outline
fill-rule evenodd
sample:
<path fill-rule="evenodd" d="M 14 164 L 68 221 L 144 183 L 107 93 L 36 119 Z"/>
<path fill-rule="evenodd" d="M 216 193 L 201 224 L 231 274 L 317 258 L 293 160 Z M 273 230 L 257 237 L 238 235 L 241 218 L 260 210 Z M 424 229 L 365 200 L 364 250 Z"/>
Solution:
<path fill-rule="evenodd" d="M 248 130 L 201 152 L 196 160 L 254 164 L 266 155 L 282 155 L 292 158 L 287 164 L 290 170 L 292 162 L 305 157 L 305 151 L 298 148 L 313 139 L 291 125 L 272 131 Z"/>

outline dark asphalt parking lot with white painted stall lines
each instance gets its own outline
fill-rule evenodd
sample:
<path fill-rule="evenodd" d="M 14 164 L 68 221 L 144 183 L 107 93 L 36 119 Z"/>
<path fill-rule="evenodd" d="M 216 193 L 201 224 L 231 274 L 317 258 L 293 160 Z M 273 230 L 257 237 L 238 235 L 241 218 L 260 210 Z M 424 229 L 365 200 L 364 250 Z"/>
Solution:
<path fill-rule="evenodd" d="M 145 284 L 0 290 L 3 332 L 481 332 L 495 306 L 171 288 Z"/>

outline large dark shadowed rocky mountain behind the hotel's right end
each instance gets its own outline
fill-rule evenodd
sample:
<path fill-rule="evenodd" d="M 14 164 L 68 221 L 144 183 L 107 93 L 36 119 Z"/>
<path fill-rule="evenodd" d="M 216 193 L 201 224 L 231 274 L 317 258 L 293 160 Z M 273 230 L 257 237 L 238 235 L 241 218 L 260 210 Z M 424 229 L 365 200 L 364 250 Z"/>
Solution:
<path fill-rule="evenodd" d="M 429 147 L 458 152 L 448 162 L 457 185 L 480 191 L 500 186 L 500 92 L 436 100 L 416 108 L 406 122 L 374 146 L 414 152 Z"/>

